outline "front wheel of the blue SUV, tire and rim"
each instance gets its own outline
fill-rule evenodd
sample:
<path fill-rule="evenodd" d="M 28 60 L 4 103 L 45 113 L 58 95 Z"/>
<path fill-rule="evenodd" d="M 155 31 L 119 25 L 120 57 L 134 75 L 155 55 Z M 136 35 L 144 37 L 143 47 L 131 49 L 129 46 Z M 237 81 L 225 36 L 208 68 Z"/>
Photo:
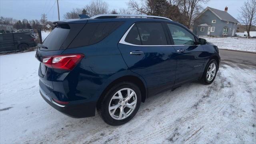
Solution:
<path fill-rule="evenodd" d="M 214 76 L 213 76 L 212 70 L 210 70 L 212 66 L 215 66 Z M 210 73 L 209 73 L 209 70 L 211 71 Z M 211 84 L 215 80 L 217 72 L 218 72 L 218 63 L 216 60 L 212 59 L 206 65 L 206 68 L 204 70 L 203 76 L 200 81 L 202 82 L 202 84 Z"/>

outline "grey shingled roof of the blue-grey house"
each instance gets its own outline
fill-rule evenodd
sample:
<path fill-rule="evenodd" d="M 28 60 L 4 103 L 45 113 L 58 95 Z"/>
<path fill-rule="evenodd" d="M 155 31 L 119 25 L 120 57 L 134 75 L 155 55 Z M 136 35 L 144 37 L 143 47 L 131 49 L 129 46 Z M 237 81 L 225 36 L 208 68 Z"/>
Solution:
<path fill-rule="evenodd" d="M 229 21 L 229 22 L 236 22 L 239 23 L 238 20 L 236 20 L 236 18 L 234 18 L 233 16 L 231 16 L 228 12 L 222 11 L 222 10 L 218 10 L 215 8 L 210 8 L 210 7 L 206 7 L 201 13 L 203 14 L 206 10 L 210 10 L 213 14 L 215 14 L 220 20 L 224 20 L 224 21 Z M 199 15 L 199 16 L 200 16 Z M 198 17 L 199 17 L 198 16 Z M 198 18 L 197 17 L 197 18 Z"/>

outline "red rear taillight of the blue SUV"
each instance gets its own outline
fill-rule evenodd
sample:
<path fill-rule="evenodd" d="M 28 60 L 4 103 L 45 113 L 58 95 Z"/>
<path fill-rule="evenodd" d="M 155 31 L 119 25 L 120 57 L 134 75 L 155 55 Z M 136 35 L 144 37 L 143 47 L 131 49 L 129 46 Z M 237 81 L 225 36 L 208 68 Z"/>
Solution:
<path fill-rule="evenodd" d="M 42 62 L 50 68 L 72 70 L 82 58 L 84 58 L 83 54 L 62 54 L 45 57 Z"/>

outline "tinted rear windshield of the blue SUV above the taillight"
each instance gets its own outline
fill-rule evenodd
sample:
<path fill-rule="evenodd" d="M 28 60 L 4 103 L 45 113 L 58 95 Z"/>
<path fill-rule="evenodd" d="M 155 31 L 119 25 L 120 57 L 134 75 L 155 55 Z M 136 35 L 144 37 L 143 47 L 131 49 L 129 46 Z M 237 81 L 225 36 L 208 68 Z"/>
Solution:
<path fill-rule="evenodd" d="M 51 50 L 60 50 L 60 47 L 62 46 L 64 40 L 68 36 L 70 29 L 67 28 L 60 28 L 56 27 L 50 34 L 46 37 L 46 39 L 43 42 L 43 45 L 46 46 L 46 48 L 40 48 L 40 50 L 44 51 L 51 51 Z"/>

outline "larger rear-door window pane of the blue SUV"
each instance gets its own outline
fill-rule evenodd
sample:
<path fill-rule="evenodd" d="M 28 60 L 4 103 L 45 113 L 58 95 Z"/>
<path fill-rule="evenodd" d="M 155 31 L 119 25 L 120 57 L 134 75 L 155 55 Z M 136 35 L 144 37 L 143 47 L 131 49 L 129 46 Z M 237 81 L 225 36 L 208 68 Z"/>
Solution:
<path fill-rule="evenodd" d="M 167 45 L 166 36 L 161 23 L 138 23 L 142 45 Z"/>

